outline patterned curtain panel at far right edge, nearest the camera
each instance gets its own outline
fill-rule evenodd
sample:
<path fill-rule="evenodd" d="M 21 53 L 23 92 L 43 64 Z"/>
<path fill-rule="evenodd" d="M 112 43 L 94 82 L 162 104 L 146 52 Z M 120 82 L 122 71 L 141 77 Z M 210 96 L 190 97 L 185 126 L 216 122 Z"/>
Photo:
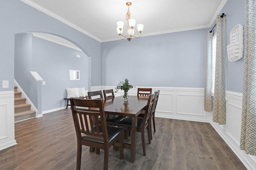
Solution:
<path fill-rule="evenodd" d="M 244 89 L 240 149 L 256 155 L 256 2 L 245 0 Z"/>

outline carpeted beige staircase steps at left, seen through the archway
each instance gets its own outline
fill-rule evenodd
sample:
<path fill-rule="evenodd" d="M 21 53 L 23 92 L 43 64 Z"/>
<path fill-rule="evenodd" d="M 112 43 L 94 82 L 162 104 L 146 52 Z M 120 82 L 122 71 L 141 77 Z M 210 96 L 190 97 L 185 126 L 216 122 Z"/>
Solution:
<path fill-rule="evenodd" d="M 21 97 L 18 86 L 14 86 L 14 122 L 36 117 L 36 111 L 31 110 L 30 104 L 26 104 L 26 98 Z"/>

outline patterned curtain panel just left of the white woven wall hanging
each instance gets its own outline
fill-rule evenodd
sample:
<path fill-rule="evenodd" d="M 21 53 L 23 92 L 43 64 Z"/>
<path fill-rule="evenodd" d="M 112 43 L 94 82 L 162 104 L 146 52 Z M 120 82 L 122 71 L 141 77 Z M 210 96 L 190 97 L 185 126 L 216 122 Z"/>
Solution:
<path fill-rule="evenodd" d="M 214 82 L 213 121 L 226 124 L 226 16 L 216 19 L 216 66 Z"/>

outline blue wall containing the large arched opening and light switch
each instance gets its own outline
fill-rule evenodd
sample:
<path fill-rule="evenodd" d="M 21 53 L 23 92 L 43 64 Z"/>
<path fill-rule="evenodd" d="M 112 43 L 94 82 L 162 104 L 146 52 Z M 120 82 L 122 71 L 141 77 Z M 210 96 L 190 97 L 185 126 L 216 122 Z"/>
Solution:
<path fill-rule="evenodd" d="M 14 90 L 14 36 L 26 32 L 52 33 L 76 44 L 91 57 L 92 86 L 101 85 L 100 42 L 20 0 L 0 1 L 0 16 L 0 82 L 9 80 L 9 88 L 0 86 L 0 91 Z"/>

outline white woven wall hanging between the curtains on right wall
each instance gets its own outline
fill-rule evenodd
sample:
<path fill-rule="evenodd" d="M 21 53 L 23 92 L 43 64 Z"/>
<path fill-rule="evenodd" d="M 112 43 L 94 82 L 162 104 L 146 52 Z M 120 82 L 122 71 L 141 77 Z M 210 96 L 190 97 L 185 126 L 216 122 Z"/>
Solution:
<path fill-rule="evenodd" d="M 238 24 L 230 31 L 230 45 L 227 46 L 228 60 L 238 61 L 244 54 L 244 29 Z"/>

